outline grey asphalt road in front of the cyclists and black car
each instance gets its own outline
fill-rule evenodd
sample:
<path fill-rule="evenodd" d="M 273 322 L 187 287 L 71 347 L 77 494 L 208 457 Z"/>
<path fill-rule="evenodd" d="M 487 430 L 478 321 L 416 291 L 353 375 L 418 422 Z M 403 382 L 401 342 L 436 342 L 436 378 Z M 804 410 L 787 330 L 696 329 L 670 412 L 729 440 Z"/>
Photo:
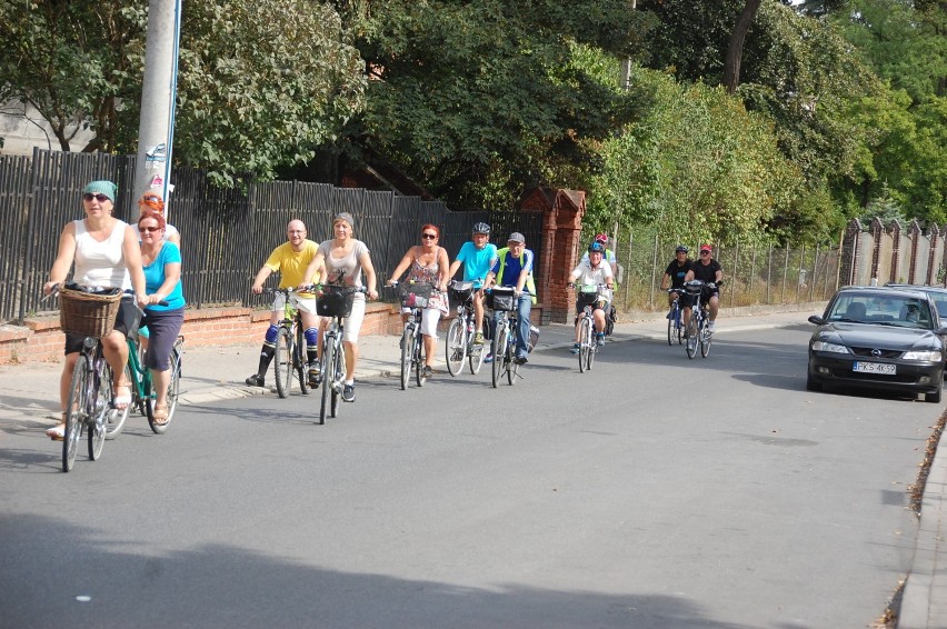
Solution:
<path fill-rule="evenodd" d="M 14 426 L 0 627 L 865 627 L 940 409 L 806 392 L 810 331 L 187 407 L 69 475 Z"/>

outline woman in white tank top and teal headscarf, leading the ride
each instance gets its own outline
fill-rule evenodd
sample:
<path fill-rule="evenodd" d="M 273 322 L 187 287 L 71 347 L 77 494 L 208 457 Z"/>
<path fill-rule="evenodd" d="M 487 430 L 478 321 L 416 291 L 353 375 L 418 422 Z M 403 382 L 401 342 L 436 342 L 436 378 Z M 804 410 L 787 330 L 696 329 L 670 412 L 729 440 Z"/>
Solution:
<path fill-rule="evenodd" d="M 49 281 L 42 287 L 46 294 L 52 292 L 56 284 L 66 281 L 72 263 L 76 262 L 72 273 L 74 282 L 89 288 L 133 288 L 139 304 L 148 302 L 138 238 L 128 223 L 112 216 L 117 192 L 118 188 L 111 181 L 92 181 L 86 186 L 82 191 L 86 218 L 71 221 L 62 229 L 59 252 L 49 271 Z M 122 309 L 130 307 L 131 304 L 122 303 Z M 128 361 L 127 320 L 129 319 L 123 317 L 122 310 L 119 310 L 116 329 L 102 338 L 102 351 L 116 377 L 112 403 L 118 409 L 123 409 L 131 402 L 130 382 L 124 381 L 124 365 Z M 59 403 L 62 409 L 66 409 L 72 369 L 81 348 L 81 338 L 74 335 L 66 336 L 66 361 L 59 379 Z M 64 426 L 63 410 L 60 423 L 47 430 L 47 435 L 59 441 L 62 439 Z"/>

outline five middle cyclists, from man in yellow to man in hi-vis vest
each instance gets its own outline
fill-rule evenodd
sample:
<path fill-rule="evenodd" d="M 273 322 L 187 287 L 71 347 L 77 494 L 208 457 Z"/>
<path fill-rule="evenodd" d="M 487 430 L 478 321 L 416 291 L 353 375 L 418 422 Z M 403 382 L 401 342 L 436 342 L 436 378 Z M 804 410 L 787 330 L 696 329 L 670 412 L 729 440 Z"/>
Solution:
<path fill-rule="evenodd" d="M 327 319 L 321 322 L 317 316 L 317 292 L 319 284 L 365 288 L 353 298 L 351 313 L 345 318 L 342 347 L 346 356 L 346 378 L 342 400 L 355 401 L 355 370 L 358 362 L 358 337 L 365 318 L 366 298 L 378 298 L 377 278 L 371 256 L 363 242 L 353 237 L 355 221 L 351 214 L 341 212 L 332 220 L 335 238 L 320 244 L 307 239 L 302 221 L 292 220 L 287 226 L 287 242 L 273 249 L 253 280 L 252 290 L 262 292 L 263 282 L 273 272 L 280 273 L 280 288 L 293 288 L 287 298 L 278 294 L 272 303 L 270 325 L 267 329 L 257 372 L 247 378 L 249 386 L 263 387 L 266 373 L 276 353 L 276 340 L 279 322 L 283 316 L 286 299 L 292 300 L 300 311 L 307 343 L 309 361 L 309 385 L 320 386 L 321 365 L 319 362 L 319 336 L 325 331 Z M 536 303 L 536 284 L 532 278 L 534 253 L 526 248 L 526 238 L 514 232 L 507 239 L 507 247 L 498 249 L 490 242 L 490 226 L 478 222 L 474 226 L 470 241 L 465 242 L 453 262 L 448 262 L 447 250 L 439 244 L 440 230 L 437 226 L 425 224 L 420 229 L 420 242 L 412 246 L 399 261 L 386 281 L 396 284 L 406 276 L 409 282 L 420 282 L 431 288 L 421 316 L 420 332 L 425 345 L 423 377 L 432 375 L 433 357 L 437 352 L 437 327 L 440 318 L 449 312 L 447 286 L 449 280 L 462 267 L 463 281 L 474 282 L 474 310 L 477 330 L 484 329 L 485 291 L 494 286 L 511 287 L 517 294 L 518 337 L 515 360 L 525 363 L 528 360 L 530 312 Z M 407 314 L 410 308 L 402 308 Z M 475 345 L 484 345 L 484 335 L 478 331 Z M 491 360 L 487 357 L 486 361 Z"/>

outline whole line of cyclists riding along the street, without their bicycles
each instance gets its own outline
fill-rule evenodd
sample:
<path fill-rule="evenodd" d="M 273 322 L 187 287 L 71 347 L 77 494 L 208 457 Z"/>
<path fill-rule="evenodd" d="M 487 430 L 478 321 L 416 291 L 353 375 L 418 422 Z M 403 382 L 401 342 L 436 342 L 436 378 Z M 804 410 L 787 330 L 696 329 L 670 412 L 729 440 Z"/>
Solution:
<path fill-rule="evenodd" d="M 83 190 L 82 202 L 86 217 L 69 222 L 60 236 L 59 250 L 49 273 L 43 291 L 49 294 L 62 283 L 74 262 L 73 282 L 88 289 L 121 289 L 134 294 L 137 306 L 143 308 L 141 321 L 151 330 L 148 340 L 146 365 L 152 370 L 157 389 L 154 405 L 156 419 L 160 422 L 167 417 L 167 381 L 170 348 L 183 323 L 185 299 L 181 286 L 180 233 L 163 217 L 163 201 L 154 192 L 146 192 L 139 199 L 140 216 L 134 226 L 130 226 L 112 216 L 117 186 L 111 181 L 92 181 Z M 462 267 L 462 280 L 472 282 L 474 313 L 476 336 L 474 343 L 482 346 L 485 317 L 485 296 L 495 286 L 512 288 L 516 296 L 517 337 L 514 360 L 528 361 L 530 339 L 530 314 L 537 301 L 534 279 L 534 252 L 526 247 L 522 233 L 512 232 L 507 246 L 497 248 L 490 242 L 490 226 L 477 222 L 472 228 L 470 241 L 465 242 L 455 260 L 448 263 L 447 251 L 439 246 L 440 230 L 437 226 L 425 224 L 420 229 L 420 242 L 412 246 L 393 269 L 387 284 L 396 283 L 407 272 L 407 280 L 422 282 L 432 288 L 421 319 L 426 365 L 423 376 L 432 372 L 431 360 L 436 355 L 437 327 L 440 318 L 448 313 L 447 286 Z M 345 319 L 342 347 L 346 358 L 342 400 L 355 401 L 355 371 L 358 363 L 358 337 L 365 319 L 366 300 L 378 298 L 377 278 L 371 256 L 365 242 L 355 238 L 355 220 L 348 212 L 340 212 L 332 220 L 332 238 L 316 243 L 309 240 L 301 220 L 293 219 L 287 224 L 287 241 L 275 248 L 270 257 L 257 272 L 252 291 L 261 293 L 263 283 L 273 273 L 280 276 L 279 287 L 292 288 L 295 292 L 278 293 L 271 307 L 269 327 L 260 349 L 257 372 L 247 378 L 249 386 L 262 387 L 266 372 L 276 353 L 276 340 L 279 323 L 283 317 L 286 299 L 293 301 L 300 312 L 307 342 L 309 383 L 320 385 L 319 363 L 320 326 L 325 329 L 327 319 L 320 323 L 318 317 L 318 284 L 343 286 L 358 289 L 352 296 L 352 308 Z M 604 233 L 596 236 L 579 264 L 571 271 L 569 283 L 590 286 L 598 289 L 598 299 L 594 307 L 595 330 L 599 342 L 604 339 L 609 319 L 614 319 L 612 290 L 617 263 L 614 252 L 607 248 L 608 238 Z M 685 282 L 699 279 L 706 282 L 705 301 L 710 309 L 710 331 L 714 331 L 719 298 L 718 289 L 722 277 L 720 264 L 711 258 L 709 244 L 700 247 L 700 258 L 690 260 L 687 247 L 676 250 L 676 259 L 668 264 L 661 281 L 661 288 L 672 289 L 669 300 L 682 298 L 685 322 L 690 317 L 690 299 L 684 291 Z M 584 307 L 577 302 L 576 345 L 578 351 L 578 320 Z M 124 365 L 128 359 L 126 339 L 139 325 L 134 303 L 122 301 L 116 319 L 114 330 L 102 339 L 103 353 L 112 372 L 117 376 L 113 391 L 113 405 L 123 409 L 130 401 L 129 382 L 124 380 Z M 61 407 L 66 409 L 72 365 L 74 365 L 82 339 L 68 335 L 66 339 L 66 362 L 60 378 Z M 485 361 L 490 361 L 489 355 Z M 48 431 L 52 439 L 61 439 L 63 423 Z"/>

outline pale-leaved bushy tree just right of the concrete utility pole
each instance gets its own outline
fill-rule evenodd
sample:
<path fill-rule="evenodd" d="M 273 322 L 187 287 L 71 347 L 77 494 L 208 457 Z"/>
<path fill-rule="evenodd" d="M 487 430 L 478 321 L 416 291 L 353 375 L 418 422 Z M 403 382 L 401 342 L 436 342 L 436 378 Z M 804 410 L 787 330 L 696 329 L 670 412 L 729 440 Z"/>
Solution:
<path fill-rule="evenodd" d="M 176 156 L 269 179 L 309 160 L 363 106 L 365 72 L 329 4 L 185 3 Z"/>

